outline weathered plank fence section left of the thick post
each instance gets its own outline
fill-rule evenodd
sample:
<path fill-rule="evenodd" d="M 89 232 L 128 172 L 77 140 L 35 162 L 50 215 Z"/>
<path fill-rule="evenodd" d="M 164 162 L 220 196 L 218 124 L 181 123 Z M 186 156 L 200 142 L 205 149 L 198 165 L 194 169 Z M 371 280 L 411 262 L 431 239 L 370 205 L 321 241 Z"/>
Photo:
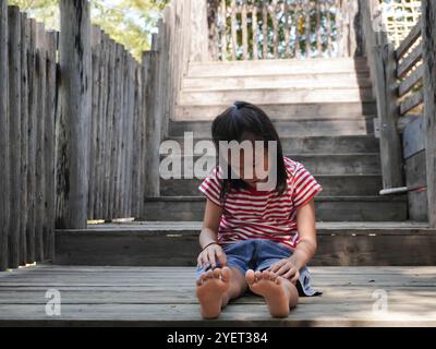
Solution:
<path fill-rule="evenodd" d="M 56 33 L 1 3 L 0 269 L 52 260 Z"/>

